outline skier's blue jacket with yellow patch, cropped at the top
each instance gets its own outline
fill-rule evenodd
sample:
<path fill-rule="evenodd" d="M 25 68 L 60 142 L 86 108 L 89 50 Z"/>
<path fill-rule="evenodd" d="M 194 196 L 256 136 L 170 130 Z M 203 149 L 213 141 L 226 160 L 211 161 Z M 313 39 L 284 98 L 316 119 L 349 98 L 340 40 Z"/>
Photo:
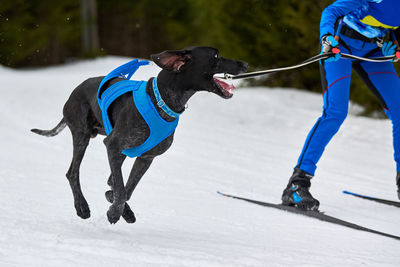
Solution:
<path fill-rule="evenodd" d="M 320 37 L 335 35 L 340 18 L 368 38 L 382 38 L 391 30 L 399 33 L 400 0 L 337 0 L 322 13 Z"/>

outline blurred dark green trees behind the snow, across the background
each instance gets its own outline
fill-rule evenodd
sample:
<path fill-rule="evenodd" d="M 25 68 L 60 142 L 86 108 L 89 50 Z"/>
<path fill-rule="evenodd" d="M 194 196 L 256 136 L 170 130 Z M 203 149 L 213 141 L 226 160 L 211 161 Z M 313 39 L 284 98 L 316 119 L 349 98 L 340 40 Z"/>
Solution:
<path fill-rule="evenodd" d="M 319 52 L 320 15 L 332 2 L 2 0 L 0 64 L 40 66 L 101 54 L 149 58 L 167 49 L 206 45 L 253 69 L 287 66 Z M 379 107 L 353 80 L 352 99 L 369 110 Z M 321 90 L 318 64 L 273 74 L 264 83 Z"/>

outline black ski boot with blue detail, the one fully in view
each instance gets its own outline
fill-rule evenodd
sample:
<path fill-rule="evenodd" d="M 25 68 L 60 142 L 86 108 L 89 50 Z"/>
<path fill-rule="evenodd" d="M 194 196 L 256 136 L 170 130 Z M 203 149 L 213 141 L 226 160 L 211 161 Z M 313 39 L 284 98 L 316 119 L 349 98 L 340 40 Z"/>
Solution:
<path fill-rule="evenodd" d="M 315 210 L 319 208 L 319 201 L 311 195 L 309 189 L 313 176 L 300 169 L 294 169 L 292 177 L 282 194 L 282 204 L 295 206 L 303 210 Z"/>

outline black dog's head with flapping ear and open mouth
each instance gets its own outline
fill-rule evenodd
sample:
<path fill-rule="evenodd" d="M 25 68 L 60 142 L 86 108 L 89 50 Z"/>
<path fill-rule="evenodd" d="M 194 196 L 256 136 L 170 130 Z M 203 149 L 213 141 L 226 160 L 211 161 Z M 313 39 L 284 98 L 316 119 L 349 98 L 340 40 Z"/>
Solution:
<path fill-rule="evenodd" d="M 151 59 L 194 91 L 208 91 L 223 98 L 231 98 L 233 85 L 214 77 L 215 74 L 237 75 L 247 70 L 246 62 L 223 58 L 212 47 L 189 47 L 183 50 L 164 51 L 151 55 Z"/>

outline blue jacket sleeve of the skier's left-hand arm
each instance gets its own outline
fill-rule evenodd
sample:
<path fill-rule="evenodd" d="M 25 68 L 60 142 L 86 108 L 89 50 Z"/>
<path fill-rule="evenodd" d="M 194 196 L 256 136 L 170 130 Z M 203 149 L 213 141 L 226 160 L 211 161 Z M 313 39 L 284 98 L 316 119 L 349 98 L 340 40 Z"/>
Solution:
<path fill-rule="evenodd" d="M 320 39 L 327 34 L 335 35 L 336 20 L 362 7 L 367 2 L 374 2 L 374 0 L 337 0 L 325 8 L 321 16 Z"/>

